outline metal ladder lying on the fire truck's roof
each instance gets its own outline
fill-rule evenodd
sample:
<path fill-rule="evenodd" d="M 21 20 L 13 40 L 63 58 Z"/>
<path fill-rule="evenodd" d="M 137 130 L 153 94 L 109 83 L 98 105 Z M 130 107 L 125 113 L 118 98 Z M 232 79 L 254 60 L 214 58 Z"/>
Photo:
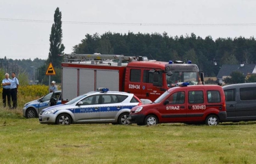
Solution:
<path fill-rule="evenodd" d="M 105 60 L 116 60 L 117 65 L 122 65 L 122 62 L 130 62 L 136 60 L 135 56 L 124 56 L 124 55 L 101 55 L 101 54 L 64 54 L 64 62 L 83 62 L 90 61 L 91 64 L 96 62 L 102 63 Z"/>

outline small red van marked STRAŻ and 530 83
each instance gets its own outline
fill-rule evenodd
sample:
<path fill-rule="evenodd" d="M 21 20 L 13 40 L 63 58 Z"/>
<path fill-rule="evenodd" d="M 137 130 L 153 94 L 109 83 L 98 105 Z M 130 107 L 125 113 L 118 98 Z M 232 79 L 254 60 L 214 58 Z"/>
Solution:
<path fill-rule="evenodd" d="M 218 85 L 173 87 L 151 104 L 133 107 L 129 120 L 138 125 L 205 122 L 214 126 L 226 120 L 224 91 Z"/>

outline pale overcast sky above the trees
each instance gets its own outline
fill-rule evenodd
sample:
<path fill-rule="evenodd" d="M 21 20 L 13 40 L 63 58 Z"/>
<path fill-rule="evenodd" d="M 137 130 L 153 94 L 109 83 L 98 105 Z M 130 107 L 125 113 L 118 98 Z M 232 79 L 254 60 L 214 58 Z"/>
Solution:
<path fill-rule="evenodd" d="M 64 53 L 86 34 L 105 32 L 256 36 L 254 0 L 0 0 L 0 58 L 47 59 L 57 7 Z"/>

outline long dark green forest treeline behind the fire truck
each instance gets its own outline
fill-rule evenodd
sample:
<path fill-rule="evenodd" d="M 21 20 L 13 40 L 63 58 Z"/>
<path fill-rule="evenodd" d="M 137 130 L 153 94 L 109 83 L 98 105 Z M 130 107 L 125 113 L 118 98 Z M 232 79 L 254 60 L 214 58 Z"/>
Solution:
<path fill-rule="evenodd" d="M 87 34 L 73 50 L 78 54 L 147 56 L 158 61 L 191 60 L 204 71 L 206 77 L 215 77 L 223 64 L 251 64 L 256 61 L 254 37 L 213 40 L 211 36 L 203 39 L 194 33 L 180 37 L 168 36 L 166 32 Z"/>

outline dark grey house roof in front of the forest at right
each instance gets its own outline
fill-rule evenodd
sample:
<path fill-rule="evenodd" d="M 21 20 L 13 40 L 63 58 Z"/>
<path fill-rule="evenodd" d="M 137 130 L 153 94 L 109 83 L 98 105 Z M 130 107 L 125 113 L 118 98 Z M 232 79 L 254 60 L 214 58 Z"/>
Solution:
<path fill-rule="evenodd" d="M 241 66 L 240 64 L 234 64 L 234 65 L 222 65 L 221 69 L 217 75 L 217 79 L 222 79 L 223 76 L 230 76 L 230 74 L 233 71 L 240 71 L 244 75 L 247 75 L 248 73 L 252 74 L 255 73 L 255 64 L 244 64 Z"/>

